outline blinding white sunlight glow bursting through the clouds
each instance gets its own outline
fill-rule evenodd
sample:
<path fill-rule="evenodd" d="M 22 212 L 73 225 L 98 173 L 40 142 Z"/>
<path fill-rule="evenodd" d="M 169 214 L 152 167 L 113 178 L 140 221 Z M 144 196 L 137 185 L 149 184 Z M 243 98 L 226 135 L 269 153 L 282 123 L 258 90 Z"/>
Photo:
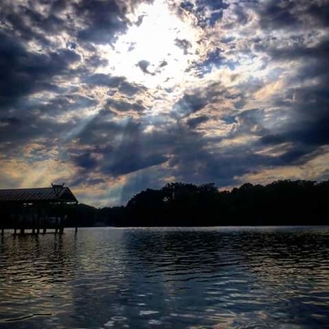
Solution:
<path fill-rule="evenodd" d="M 138 18 L 140 24 L 137 24 Z M 199 57 L 197 29 L 182 21 L 160 0 L 151 5 L 142 3 L 132 21 L 136 23 L 113 47 L 101 46 L 109 65 L 99 73 L 122 75 L 147 88 L 158 85 L 170 88 L 184 80 L 188 65 Z M 188 40 L 186 49 L 179 47 L 179 40 Z M 141 62 L 144 65 L 138 66 Z"/>

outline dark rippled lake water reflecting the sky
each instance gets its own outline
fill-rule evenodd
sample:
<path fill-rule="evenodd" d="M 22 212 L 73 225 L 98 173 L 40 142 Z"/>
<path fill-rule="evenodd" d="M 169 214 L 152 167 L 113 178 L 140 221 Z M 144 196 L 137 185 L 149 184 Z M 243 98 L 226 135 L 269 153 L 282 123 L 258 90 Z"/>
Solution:
<path fill-rule="evenodd" d="M 329 328 L 329 228 L 86 228 L 0 241 L 0 328 Z"/>

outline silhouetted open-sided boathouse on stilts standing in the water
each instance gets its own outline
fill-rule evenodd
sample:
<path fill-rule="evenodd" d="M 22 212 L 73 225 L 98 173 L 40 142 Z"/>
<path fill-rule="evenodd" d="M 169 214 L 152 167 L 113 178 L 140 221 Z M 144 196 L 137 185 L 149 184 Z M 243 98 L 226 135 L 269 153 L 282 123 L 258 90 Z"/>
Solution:
<path fill-rule="evenodd" d="M 64 184 L 45 188 L 0 189 L 1 233 L 13 228 L 14 234 L 45 234 L 47 229 L 62 233 L 74 223 L 77 232 L 77 198 Z M 74 217 L 74 218 L 73 218 Z"/>

